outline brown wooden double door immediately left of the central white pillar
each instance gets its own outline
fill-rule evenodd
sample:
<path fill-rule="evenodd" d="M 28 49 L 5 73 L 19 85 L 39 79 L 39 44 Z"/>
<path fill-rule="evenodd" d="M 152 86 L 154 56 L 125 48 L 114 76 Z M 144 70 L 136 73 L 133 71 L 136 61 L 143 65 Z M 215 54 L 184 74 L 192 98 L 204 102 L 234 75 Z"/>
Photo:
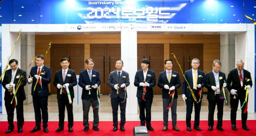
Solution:
<path fill-rule="evenodd" d="M 116 70 L 116 60 L 121 59 L 121 45 L 91 44 L 90 58 L 94 60 L 94 69 L 100 72 L 100 93 L 109 95 L 108 76 L 110 72 Z"/>

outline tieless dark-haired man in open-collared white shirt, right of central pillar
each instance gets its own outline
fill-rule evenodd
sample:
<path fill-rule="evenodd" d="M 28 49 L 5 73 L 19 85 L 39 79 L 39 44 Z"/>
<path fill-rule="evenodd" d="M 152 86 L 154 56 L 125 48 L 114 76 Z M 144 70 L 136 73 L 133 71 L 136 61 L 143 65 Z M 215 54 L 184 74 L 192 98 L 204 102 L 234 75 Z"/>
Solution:
<path fill-rule="evenodd" d="M 145 126 L 146 120 L 148 130 L 154 131 L 151 126 L 151 105 L 154 97 L 153 87 L 156 85 L 156 76 L 154 71 L 148 69 L 150 60 L 144 58 L 141 60 L 140 65 L 142 69 L 136 72 L 134 79 L 134 85 L 138 87 L 136 97 L 140 107 L 140 125 Z"/>

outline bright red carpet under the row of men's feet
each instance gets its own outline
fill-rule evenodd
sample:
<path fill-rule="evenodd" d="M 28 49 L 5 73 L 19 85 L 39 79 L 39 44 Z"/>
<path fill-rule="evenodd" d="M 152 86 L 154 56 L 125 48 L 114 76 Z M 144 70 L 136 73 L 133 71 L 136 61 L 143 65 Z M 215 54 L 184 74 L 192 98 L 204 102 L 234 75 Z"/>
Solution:
<path fill-rule="evenodd" d="M 58 122 L 57 121 L 50 121 L 48 122 L 48 133 L 44 133 L 42 128 L 41 131 L 37 131 L 35 133 L 30 133 L 29 131 L 34 128 L 35 122 L 32 121 L 26 121 L 24 126 L 23 126 L 23 132 L 18 133 L 18 130 L 16 128 L 16 122 L 14 123 L 15 129 L 14 132 L 11 132 L 10 134 L 5 134 L 5 131 L 8 128 L 8 122 L 7 121 L 2 121 L 1 127 L 0 127 L 0 136 L 3 135 L 10 135 L 10 136 L 28 136 L 28 135 L 66 135 L 68 134 L 69 136 L 80 136 L 80 135 L 94 135 L 94 136 L 132 136 L 133 135 L 133 127 L 140 125 L 140 121 L 126 121 L 125 124 L 125 132 L 122 132 L 119 130 L 118 126 L 118 131 L 113 132 L 112 131 L 112 121 L 100 121 L 99 124 L 99 129 L 100 131 L 95 132 L 92 129 L 92 122 L 90 122 L 90 129 L 88 132 L 83 132 L 84 126 L 82 121 L 75 121 L 74 122 L 74 132 L 70 133 L 68 132 L 68 127 L 67 124 L 68 122 L 65 122 L 65 128 L 64 131 L 56 133 L 55 130 L 58 128 Z M 192 136 L 255 136 L 256 134 L 256 120 L 248 120 L 247 121 L 247 126 L 250 128 L 249 131 L 243 130 L 241 128 L 241 120 L 237 121 L 237 131 L 234 131 L 231 129 L 231 124 L 230 120 L 224 120 L 223 121 L 223 128 L 224 132 L 221 132 L 219 130 L 216 130 L 216 121 L 214 122 L 214 130 L 213 131 L 208 131 L 208 121 L 200 121 L 200 128 L 202 128 L 202 132 L 199 132 L 197 130 L 192 129 L 191 132 L 186 131 L 186 121 L 177 121 L 177 126 L 180 128 L 180 132 L 176 132 L 172 130 L 172 122 L 169 121 L 169 130 L 166 132 L 162 131 L 163 128 L 163 122 L 162 121 L 152 121 L 152 127 L 155 129 L 153 132 L 149 132 L 150 136 L 166 136 L 166 135 L 192 135 Z M 191 122 L 193 124 L 193 121 Z M 193 125 L 192 125 L 193 127 Z"/>

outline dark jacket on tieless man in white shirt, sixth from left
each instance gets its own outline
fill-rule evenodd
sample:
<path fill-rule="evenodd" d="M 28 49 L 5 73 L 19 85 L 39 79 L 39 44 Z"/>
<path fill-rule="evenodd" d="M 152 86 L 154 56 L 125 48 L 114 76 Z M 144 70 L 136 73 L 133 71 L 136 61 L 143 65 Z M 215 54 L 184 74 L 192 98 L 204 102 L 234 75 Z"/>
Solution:
<path fill-rule="evenodd" d="M 144 75 L 143 75 L 143 70 L 141 69 L 136 72 L 135 79 L 134 79 L 134 85 L 137 87 L 136 97 L 142 97 L 144 87 L 140 86 L 140 83 L 143 81 L 144 81 Z M 145 97 L 147 97 L 147 98 L 154 97 L 153 87 L 156 85 L 155 72 L 148 69 L 145 81 L 149 84 L 149 86 L 146 87 Z"/>

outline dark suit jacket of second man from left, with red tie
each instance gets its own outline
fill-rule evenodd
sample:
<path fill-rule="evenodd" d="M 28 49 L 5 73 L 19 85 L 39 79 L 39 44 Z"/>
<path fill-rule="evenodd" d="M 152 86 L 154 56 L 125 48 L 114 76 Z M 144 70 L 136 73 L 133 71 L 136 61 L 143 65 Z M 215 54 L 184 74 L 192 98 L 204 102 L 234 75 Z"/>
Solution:
<path fill-rule="evenodd" d="M 46 97 L 49 95 L 49 88 L 48 88 L 48 84 L 51 83 L 51 76 L 52 76 L 52 71 L 51 68 L 49 68 L 48 66 L 43 65 L 42 67 L 42 72 L 41 72 L 41 86 L 37 83 L 36 84 L 36 78 L 35 75 L 37 75 L 37 68 L 38 66 L 34 66 L 31 68 L 30 70 L 30 76 L 33 77 L 33 81 L 32 81 L 32 87 L 31 87 L 31 95 L 34 96 L 36 95 L 36 93 L 38 94 L 38 96 L 40 97 Z M 28 82 L 28 84 L 31 84 Z M 36 85 L 36 89 L 34 91 L 34 86 Z"/>

